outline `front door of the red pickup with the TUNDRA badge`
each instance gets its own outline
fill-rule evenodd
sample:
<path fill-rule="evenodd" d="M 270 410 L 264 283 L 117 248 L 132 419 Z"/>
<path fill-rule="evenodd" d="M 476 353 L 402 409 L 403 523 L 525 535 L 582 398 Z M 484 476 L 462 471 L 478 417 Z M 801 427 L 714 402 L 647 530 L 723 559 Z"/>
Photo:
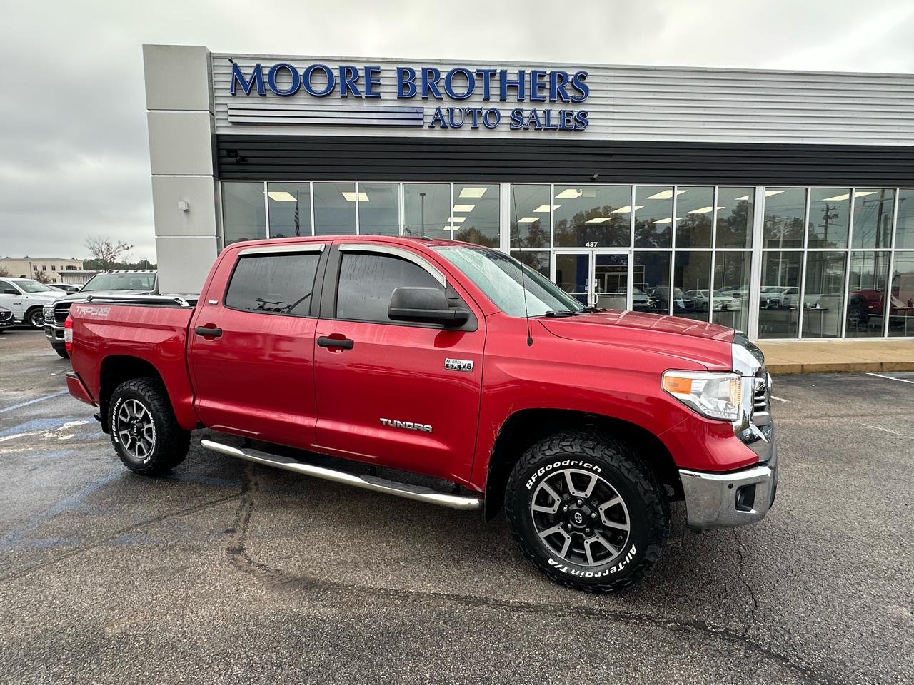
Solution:
<path fill-rule="evenodd" d="M 390 295 L 401 286 L 444 290 L 473 316 L 452 330 L 391 321 Z M 330 251 L 321 310 L 314 348 L 321 450 L 469 479 L 485 342 L 475 303 L 407 248 L 344 243 Z"/>

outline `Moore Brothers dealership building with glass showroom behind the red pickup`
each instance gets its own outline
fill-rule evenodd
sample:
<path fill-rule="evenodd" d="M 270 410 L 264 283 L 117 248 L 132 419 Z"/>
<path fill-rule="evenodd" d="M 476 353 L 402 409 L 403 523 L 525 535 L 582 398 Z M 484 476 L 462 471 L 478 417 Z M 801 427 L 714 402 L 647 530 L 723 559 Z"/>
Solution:
<path fill-rule="evenodd" d="M 430 236 L 753 340 L 914 338 L 914 76 L 143 59 L 164 292 L 239 240 Z"/>

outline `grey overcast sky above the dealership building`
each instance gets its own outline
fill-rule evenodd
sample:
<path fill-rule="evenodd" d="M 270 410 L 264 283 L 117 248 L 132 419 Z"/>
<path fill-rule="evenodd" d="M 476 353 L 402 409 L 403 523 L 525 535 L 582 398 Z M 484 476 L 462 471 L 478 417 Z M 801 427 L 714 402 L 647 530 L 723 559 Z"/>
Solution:
<path fill-rule="evenodd" d="M 914 71 L 912 0 L 0 0 L 0 257 L 155 260 L 143 43 L 214 51 Z"/>

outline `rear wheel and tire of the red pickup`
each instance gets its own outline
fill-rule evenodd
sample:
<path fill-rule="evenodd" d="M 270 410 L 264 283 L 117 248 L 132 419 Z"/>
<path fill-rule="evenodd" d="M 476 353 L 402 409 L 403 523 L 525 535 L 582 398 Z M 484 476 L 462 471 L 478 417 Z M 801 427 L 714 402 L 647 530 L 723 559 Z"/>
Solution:
<path fill-rule="evenodd" d="M 154 476 L 184 461 L 190 431 L 178 425 L 161 378 L 118 385 L 108 412 L 114 449 L 134 473 Z"/>

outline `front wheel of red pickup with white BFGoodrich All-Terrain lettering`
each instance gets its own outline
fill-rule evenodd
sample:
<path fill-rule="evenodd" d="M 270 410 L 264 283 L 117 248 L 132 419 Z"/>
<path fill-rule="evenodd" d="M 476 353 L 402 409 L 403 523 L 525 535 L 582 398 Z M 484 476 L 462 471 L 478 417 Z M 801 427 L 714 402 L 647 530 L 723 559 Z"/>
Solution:
<path fill-rule="evenodd" d="M 666 493 L 630 446 L 590 430 L 541 440 L 505 492 L 508 527 L 549 578 L 588 592 L 622 590 L 660 557 Z"/>

